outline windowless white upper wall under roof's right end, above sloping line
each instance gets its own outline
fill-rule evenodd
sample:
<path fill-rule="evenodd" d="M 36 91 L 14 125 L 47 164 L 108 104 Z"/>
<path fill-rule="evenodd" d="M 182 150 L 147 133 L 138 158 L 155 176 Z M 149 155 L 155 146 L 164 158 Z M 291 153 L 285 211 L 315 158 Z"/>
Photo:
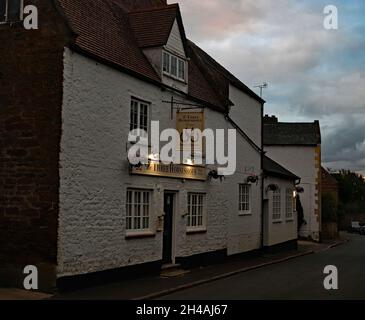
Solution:
<path fill-rule="evenodd" d="M 229 99 L 234 103 L 230 112 L 231 117 L 261 147 L 262 106 L 260 102 L 232 85 L 229 86 Z"/>

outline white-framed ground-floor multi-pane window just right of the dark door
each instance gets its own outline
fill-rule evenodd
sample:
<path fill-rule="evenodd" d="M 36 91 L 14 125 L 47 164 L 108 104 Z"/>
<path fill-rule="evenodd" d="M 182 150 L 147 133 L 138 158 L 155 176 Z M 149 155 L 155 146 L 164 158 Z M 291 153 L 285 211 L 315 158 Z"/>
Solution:
<path fill-rule="evenodd" d="M 193 215 L 194 212 L 194 202 L 192 201 L 192 197 L 197 197 L 197 201 L 195 202 L 195 212 L 196 214 Z M 198 201 L 201 200 L 201 203 Z M 187 231 L 188 232 L 198 232 L 198 231 L 206 231 L 206 194 L 199 193 L 199 192 L 189 192 L 187 197 Z M 199 210 L 199 214 L 197 213 Z M 195 216 L 196 224 L 193 225 L 193 218 Z M 201 224 L 199 223 L 199 218 L 201 218 Z"/>

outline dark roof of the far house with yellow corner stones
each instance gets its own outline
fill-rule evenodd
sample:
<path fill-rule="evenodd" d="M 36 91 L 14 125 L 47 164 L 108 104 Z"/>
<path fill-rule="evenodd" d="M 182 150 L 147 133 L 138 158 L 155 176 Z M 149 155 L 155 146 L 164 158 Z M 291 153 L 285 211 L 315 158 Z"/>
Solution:
<path fill-rule="evenodd" d="M 319 122 L 264 123 L 264 145 L 316 146 L 321 144 Z"/>

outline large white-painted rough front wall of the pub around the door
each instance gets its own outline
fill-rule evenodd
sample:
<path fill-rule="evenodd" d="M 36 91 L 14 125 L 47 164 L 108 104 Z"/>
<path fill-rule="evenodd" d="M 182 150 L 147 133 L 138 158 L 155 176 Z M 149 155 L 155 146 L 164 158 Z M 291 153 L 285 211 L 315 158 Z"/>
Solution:
<path fill-rule="evenodd" d="M 131 97 L 151 102 L 151 117 L 161 129 L 170 119 L 171 92 L 142 82 L 65 49 L 58 276 L 77 275 L 161 260 L 162 233 L 156 231 L 164 190 L 178 192 L 174 256 L 227 248 L 230 254 L 260 247 L 260 183 L 253 187 L 252 215 L 238 216 L 238 183 L 244 169 L 260 174 L 260 156 L 238 136 L 238 173 L 225 181 L 182 181 L 131 176 L 127 137 Z M 182 97 L 175 96 L 182 99 Z M 228 128 L 222 114 L 206 110 L 206 127 Z M 153 191 L 151 231 L 155 237 L 129 239 L 125 227 L 127 188 Z M 187 193 L 207 194 L 207 232 L 186 233 Z"/>

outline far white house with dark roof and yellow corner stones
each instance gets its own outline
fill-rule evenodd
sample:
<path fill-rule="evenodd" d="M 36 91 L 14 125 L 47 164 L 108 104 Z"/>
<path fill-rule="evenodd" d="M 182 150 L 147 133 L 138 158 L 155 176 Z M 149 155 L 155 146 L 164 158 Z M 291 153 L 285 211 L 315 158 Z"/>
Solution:
<path fill-rule="evenodd" d="M 313 123 L 283 123 L 264 117 L 267 156 L 301 178 L 298 187 L 304 211 L 300 236 L 320 241 L 321 234 L 321 131 Z"/>

